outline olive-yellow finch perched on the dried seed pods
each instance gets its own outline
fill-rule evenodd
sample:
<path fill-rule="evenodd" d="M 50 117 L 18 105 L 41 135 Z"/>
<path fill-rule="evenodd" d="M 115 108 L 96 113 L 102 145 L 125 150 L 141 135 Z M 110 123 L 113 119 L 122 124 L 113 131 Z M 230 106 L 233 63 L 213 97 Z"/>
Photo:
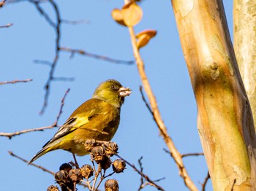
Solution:
<path fill-rule="evenodd" d="M 100 83 L 94 90 L 92 98 L 75 109 L 75 112 L 29 161 L 29 164 L 56 149 L 71 152 L 74 159 L 75 155 L 88 155 L 89 152 L 86 152 L 84 146 L 87 139 L 110 141 L 120 122 L 124 97 L 131 93 L 132 90 L 129 87 L 122 86 L 116 79 L 108 79 Z"/>

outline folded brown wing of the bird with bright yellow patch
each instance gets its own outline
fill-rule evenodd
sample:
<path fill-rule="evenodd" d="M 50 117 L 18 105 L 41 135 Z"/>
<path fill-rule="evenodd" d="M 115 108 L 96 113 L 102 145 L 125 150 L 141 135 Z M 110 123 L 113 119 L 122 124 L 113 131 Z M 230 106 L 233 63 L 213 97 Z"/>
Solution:
<path fill-rule="evenodd" d="M 66 136 L 67 134 L 71 133 L 72 131 L 86 125 L 92 118 L 94 117 L 101 117 L 102 115 L 107 114 L 105 112 L 104 107 L 110 105 L 105 101 L 92 98 L 89 101 L 83 103 L 78 110 L 75 110 L 69 117 L 69 119 L 64 123 L 64 125 L 59 128 L 57 133 L 53 136 L 50 141 L 48 141 L 43 147 L 47 146 L 48 144 L 56 141 L 57 139 Z"/>

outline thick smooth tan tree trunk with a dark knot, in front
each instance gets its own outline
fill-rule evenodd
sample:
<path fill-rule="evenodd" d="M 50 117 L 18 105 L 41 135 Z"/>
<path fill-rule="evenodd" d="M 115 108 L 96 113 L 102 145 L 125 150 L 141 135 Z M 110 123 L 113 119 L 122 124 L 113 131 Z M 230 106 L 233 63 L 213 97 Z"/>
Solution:
<path fill-rule="evenodd" d="M 172 4 L 214 190 L 255 190 L 255 128 L 222 1 Z"/>

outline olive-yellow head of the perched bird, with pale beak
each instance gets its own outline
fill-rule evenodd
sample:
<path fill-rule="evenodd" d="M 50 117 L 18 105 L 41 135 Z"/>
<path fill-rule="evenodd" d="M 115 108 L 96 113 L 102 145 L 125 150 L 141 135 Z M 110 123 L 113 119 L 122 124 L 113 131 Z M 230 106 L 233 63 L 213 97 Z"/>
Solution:
<path fill-rule="evenodd" d="M 124 103 L 124 97 L 131 93 L 132 90 L 129 87 L 123 87 L 116 79 L 108 79 L 99 84 L 92 98 L 99 98 L 113 106 L 120 107 Z"/>

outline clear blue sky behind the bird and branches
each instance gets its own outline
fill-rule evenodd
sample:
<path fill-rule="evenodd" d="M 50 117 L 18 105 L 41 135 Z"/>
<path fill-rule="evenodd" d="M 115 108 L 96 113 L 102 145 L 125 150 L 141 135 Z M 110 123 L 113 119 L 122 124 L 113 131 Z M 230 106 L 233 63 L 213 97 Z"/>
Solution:
<path fill-rule="evenodd" d="M 62 24 L 61 46 L 82 49 L 98 55 L 118 60 L 132 61 L 132 46 L 129 32 L 116 24 L 110 13 L 121 8 L 123 1 L 56 1 L 61 17 L 65 20 L 88 20 L 79 25 Z M 168 133 L 182 154 L 202 152 L 197 134 L 197 109 L 190 85 L 187 66 L 181 51 L 178 32 L 170 1 L 146 0 L 140 4 L 143 20 L 135 26 L 136 33 L 148 28 L 157 30 L 157 36 L 140 50 L 145 63 L 151 87 L 156 95 L 162 119 Z M 232 35 L 232 2 L 225 1 L 227 21 Z M 42 4 L 50 17 L 53 9 Z M 116 141 L 119 154 L 130 163 L 138 165 L 143 156 L 144 173 L 158 182 L 165 190 L 187 190 L 183 179 L 178 176 L 178 168 L 173 159 L 164 152 L 165 146 L 159 136 L 157 125 L 142 101 L 139 87 L 142 85 L 135 65 L 116 63 L 61 52 L 56 77 L 74 77 L 72 82 L 52 82 L 48 107 L 45 114 L 39 115 L 42 108 L 48 79 L 49 67 L 34 63 L 34 60 L 52 61 L 55 51 L 55 31 L 39 15 L 34 5 L 27 1 L 7 4 L 0 9 L 0 26 L 13 23 L 10 28 L 0 28 L 1 71 L 0 82 L 13 79 L 33 79 L 32 82 L 2 85 L 0 87 L 0 132 L 14 132 L 23 129 L 39 128 L 53 124 L 59 113 L 61 98 L 67 88 L 70 92 L 65 100 L 61 125 L 67 117 L 87 99 L 94 88 L 106 79 L 118 79 L 122 85 L 132 88 L 133 93 L 121 109 L 121 123 Z M 56 133 L 56 128 L 43 132 L 26 133 L 11 140 L 0 137 L 0 158 L 2 163 L 1 190 L 46 190 L 54 184 L 53 176 L 27 166 L 26 163 L 11 157 L 7 151 L 30 160 L 42 145 Z M 58 171 L 59 165 L 72 160 L 69 152 L 50 152 L 35 163 Z M 80 165 L 90 163 L 89 156 L 78 157 Z M 203 157 L 186 157 L 184 163 L 197 187 L 207 174 Z M 119 182 L 120 190 L 138 190 L 140 176 L 127 167 L 124 174 L 113 178 Z M 82 187 L 78 187 L 83 190 Z M 100 187 L 103 190 L 103 185 Z M 144 190 L 155 190 L 146 187 Z M 207 190 L 211 189 L 208 182 Z"/>

